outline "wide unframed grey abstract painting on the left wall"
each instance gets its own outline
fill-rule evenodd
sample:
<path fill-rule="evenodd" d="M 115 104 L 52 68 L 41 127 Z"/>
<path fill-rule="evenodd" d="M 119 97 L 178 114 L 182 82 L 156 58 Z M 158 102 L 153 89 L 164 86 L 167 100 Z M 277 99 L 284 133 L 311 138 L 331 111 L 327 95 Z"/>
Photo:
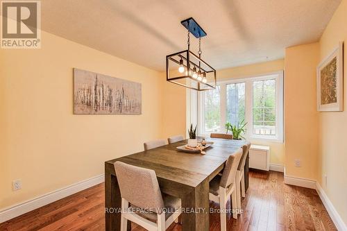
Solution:
<path fill-rule="evenodd" d="M 141 83 L 74 68 L 74 114 L 141 114 Z"/>

